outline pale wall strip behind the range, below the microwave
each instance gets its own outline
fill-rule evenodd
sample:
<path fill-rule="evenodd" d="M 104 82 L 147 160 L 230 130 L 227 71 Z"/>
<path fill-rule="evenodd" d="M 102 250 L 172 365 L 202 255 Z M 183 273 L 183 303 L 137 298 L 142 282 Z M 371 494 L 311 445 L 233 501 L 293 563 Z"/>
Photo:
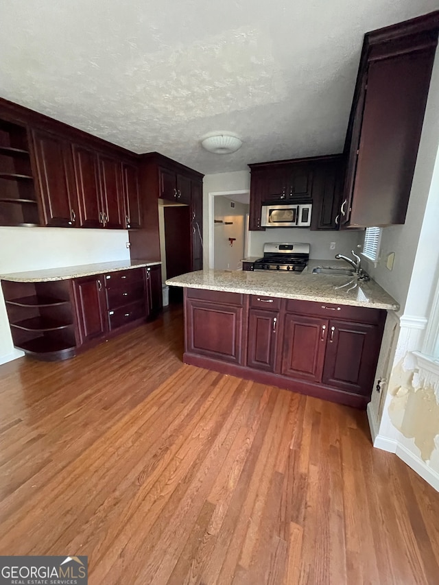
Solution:
<path fill-rule="evenodd" d="M 268 228 L 265 232 L 248 232 L 248 256 L 261 257 L 263 255 L 263 245 L 267 241 L 309 243 L 311 246 L 309 258 L 311 260 L 331 260 L 335 254 L 347 254 L 356 249 L 358 244 L 362 244 L 364 230 L 314 232 L 299 228 Z M 330 249 L 331 242 L 335 242 L 335 250 Z"/>

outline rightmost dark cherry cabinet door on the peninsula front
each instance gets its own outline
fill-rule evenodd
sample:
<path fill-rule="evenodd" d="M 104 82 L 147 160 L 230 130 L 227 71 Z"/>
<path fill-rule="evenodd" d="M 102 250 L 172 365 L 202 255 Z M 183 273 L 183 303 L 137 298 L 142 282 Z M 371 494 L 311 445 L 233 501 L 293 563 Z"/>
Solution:
<path fill-rule="evenodd" d="M 380 344 L 379 326 L 331 320 L 323 383 L 370 396 Z"/>

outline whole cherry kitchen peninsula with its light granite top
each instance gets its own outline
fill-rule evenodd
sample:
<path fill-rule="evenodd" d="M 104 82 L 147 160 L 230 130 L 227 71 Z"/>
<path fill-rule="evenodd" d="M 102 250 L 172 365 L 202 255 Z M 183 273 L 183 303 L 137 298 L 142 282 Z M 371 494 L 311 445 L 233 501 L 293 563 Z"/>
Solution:
<path fill-rule="evenodd" d="M 167 280 L 185 289 L 185 363 L 366 407 L 386 311 L 399 305 L 373 280 L 313 274 L 318 265 Z"/>

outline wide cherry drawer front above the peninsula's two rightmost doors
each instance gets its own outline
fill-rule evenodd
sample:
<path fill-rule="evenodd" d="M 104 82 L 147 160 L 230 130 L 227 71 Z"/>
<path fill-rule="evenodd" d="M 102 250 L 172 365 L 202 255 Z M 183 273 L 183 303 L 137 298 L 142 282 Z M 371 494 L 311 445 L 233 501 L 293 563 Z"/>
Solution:
<path fill-rule="evenodd" d="M 286 310 L 289 313 L 316 315 L 327 319 L 346 319 L 359 323 L 378 324 L 385 318 L 383 309 L 368 307 L 352 307 L 351 305 L 335 305 L 329 302 L 288 299 Z"/>

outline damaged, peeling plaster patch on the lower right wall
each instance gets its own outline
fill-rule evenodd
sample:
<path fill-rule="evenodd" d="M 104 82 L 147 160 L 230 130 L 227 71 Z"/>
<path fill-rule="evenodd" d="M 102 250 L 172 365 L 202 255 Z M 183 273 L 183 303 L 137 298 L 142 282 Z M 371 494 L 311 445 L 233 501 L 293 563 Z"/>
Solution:
<path fill-rule="evenodd" d="M 392 370 L 389 393 L 392 424 L 406 438 L 414 439 L 422 459 L 430 461 L 439 444 L 439 376 L 436 381 L 425 376 L 408 354 Z"/>

